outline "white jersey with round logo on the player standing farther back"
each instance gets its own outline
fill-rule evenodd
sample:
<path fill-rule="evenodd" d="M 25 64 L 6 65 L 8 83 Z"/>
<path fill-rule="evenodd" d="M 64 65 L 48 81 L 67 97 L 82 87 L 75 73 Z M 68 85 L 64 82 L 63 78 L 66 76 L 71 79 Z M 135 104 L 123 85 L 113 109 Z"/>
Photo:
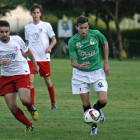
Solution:
<path fill-rule="evenodd" d="M 45 53 L 49 47 L 49 38 L 54 36 L 52 26 L 40 21 L 37 25 L 31 23 L 25 26 L 25 40 L 36 61 L 50 61 L 50 53 Z M 29 60 L 29 58 L 28 58 Z"/>

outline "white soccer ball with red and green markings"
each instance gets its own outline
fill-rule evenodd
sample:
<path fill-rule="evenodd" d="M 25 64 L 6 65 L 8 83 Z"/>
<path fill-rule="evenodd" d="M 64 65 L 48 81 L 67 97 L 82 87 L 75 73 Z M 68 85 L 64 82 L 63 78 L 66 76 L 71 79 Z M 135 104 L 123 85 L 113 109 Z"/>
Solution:
<path fill-rule="evenodd" d="M 93 125 L 100 121 L 100 113 L 96 109 L 88 109 L 84 113 L 84 121 L 86 124 Z"/>

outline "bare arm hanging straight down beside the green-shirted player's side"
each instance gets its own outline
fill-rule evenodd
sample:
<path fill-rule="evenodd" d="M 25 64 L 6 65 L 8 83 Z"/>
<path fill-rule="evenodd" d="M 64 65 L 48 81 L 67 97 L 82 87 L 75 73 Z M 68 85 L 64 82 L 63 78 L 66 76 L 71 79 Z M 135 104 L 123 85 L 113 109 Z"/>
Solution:
<path fill-rule="evenodd" d="M 105 43 L 104 43 L 104 54 L 105 54 L 104 71 L 105 71 L 105 74 L 106 74 L 107 76 L 109 76 L 108 53 L 109 53 L 108 42 L 105 41 Z"/>

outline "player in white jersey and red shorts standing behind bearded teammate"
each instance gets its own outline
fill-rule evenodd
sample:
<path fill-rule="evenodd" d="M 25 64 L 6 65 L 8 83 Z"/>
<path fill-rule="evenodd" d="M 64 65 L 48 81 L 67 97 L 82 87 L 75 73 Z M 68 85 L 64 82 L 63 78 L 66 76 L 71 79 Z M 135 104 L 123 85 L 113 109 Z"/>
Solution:
<path fill-rule="evenodd" d="M 50 53 L 51 49 L 56 44 L 55 34 L 53 32 L 52 26 L 48 22 L 43 22 L 40 20 L 42 6 L 33 5 L 30 9 L 31 16 L 33 17 L 33 23 L 25 26 L 25 40 L 28 47 L 31 49 L 37 64 L 39 65 L 40 76 L 44 78 L 45 83 L 48 87 L 50 99 L 51 99 L 51 110 L 56 110 L 56 101 L 54 87 L 51 82 L 50 73 Z M 51 43 L 49 44 L 49 38 Z M 33 70 L 33 65 L 28 58 L 28 64 L 30 67 L 30 88 L 31 88 L 31 100 L 34 104 L 34 77 L 35 72 Z"/>

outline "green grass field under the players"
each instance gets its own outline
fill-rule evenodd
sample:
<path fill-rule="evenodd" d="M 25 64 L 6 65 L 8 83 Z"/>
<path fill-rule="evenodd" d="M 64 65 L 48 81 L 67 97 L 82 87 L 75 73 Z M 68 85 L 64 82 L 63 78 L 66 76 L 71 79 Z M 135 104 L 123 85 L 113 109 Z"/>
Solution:
<path fill-rule="evenodd" d="M 34 131 L 24 132 L 25 126 L 10 113 L 0 97 L 0 140 L 139 140 L 140 139 L 140 62 L 110 60 L 108 104 L 103 109 L 106 121 L 98 125 L 98 134 L 90 136 L 90 126 L 83 121 L 79 95 L 72 95 L 72 67 L 69 59 L 52 59 L 51 79 L 58 109 L 51 111 L 48 90 L 43 78 L 35 78 L 35 103 L 39 112 L 34 122 L 17 98 L 18 106 L 34 125 Z M 91 104 L 97 95 L 91 87 Z"/>

